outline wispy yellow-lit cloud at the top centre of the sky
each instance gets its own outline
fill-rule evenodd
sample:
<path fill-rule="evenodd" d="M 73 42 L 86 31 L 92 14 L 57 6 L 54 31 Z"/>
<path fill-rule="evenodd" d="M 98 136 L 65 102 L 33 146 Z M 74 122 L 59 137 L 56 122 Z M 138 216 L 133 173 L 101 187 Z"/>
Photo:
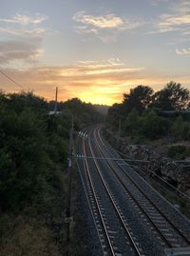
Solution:
<path fill-rule="evenodd" d="M 85 11 L 77 12 L 73 20 L 80 24 L 75 26 L 77 33 L 94 35 L 104 42 L 116 40 L 123 30 L 135 30 L 144 24 L 142 20 L 121 18 L 115 14 L 93 16 Z"/>

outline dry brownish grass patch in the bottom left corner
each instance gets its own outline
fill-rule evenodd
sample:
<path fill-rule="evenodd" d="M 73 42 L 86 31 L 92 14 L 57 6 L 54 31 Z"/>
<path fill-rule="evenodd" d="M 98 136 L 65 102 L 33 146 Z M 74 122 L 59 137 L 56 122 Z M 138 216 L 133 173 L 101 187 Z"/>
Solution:
<path fill-rule="evenodd" d="M 52 230 L 43 221 L 28 220 L 22 215 L 14 220 L 12 216 L 7 215 L 4 216 L 5 219 L 11 225 L 6 235 L 1 238 L 0 256 L 62 255 L 59 244 L 53 238 Z"/>

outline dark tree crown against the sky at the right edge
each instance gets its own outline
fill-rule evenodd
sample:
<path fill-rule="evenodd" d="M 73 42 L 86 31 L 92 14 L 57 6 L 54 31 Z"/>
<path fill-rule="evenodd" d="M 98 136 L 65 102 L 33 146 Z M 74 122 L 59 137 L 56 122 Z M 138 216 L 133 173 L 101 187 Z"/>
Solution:
<path fill-rule="evenodd" d="M 183 110 L 190 102 L 190 92 L 180 83 L 170 82 L 161 91 L 154 94 L 152 107 L 162 110 Z"/>

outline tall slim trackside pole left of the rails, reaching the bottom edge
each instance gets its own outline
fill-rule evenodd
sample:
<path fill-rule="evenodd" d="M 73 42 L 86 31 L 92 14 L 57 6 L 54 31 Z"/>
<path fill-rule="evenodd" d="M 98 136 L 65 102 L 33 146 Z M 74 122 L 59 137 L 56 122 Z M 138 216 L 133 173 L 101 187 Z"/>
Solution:
<path fill-rule="evenodd" d="M 67 185 L 67 197 L 66 197 L 66 256 L 69 256 L 69 244 L 70 244 L 70 222 L 72 220 L 70 216 L 70 201 L 71 201 L 71 186 L 72 186 L 72 167 L 73 167 L 73 129 L 74 121 L 73 114 L 71 119 L 71 128 L 69 133 L 69 151 L 68 151 L 68 185 Z"/>

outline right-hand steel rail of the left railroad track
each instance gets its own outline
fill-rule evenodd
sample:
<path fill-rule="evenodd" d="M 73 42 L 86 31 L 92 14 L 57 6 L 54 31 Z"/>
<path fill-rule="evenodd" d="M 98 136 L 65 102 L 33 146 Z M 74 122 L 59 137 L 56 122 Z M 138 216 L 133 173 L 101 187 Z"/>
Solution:
<path fill-rule="evenodd" d="M 99 164 L 98 164 L 96 158 L 94 158 L 94 151 L 93 151 L 93 149 L 92 149 L 92 145 L 91 145 L 90 139 L 88 140 L 88 145 L 89 145 L 89 148 L 90 148 L 91 155 L 93 156 L 94 163 L 95 163 L 95 165 L 96 165 L 96 167 L 97 167 L 98 174 L 99 174 L 100 177 L 101 177 L 102 183 L 103 183 L 104 188 L 105 188 L 105 191 L 106 191 L 106 193 L 107 193 L 107 195 L 108 195 L 108 197 L 109 197 L 109 199 L 110 199 L 110 202 L 112 203 L 113 207 L 115 208 L 115 211 L 116 211 L 117 215 L 119 216 L 119 220 L 120 220 L 121 223 L 122 223 L 123 230 L 125 231 L 127 237 L 130 239 L 131 245 L 133 246 L 133 248 L 134 248 L 135 252 L 137 253 L 137 255 L 138 255 L 138 256 L 141 256 L 141 255 L 143 255 L 143 253 L 140 252 L 140 250 L 139 250 L 138 246 L 136 245 L 136 243 L 135 243 L 135 241 L 134 241 L 134 239 L 133 239 L 133 237 L 132 237 L 130 231 L 128 230 L 127 226 L 125 225 L 125 223 L 124 223 L 124 221 L 123 221 L 123 217 L 122 217 L 122 215 L 121 215 L 121 213 L 120 213 L 118 207 L 116 206 L 116 204 L 115 204 L 115 202 L 114 202 L 114 200 L 113 200 L 113 198 L 112 198 L 112 195 L 110 194 L 109 188 L 107 187 L 107 185 L 106 185 L 105 182 L 104 182 L 104 177 L 103 177 L 103 175 L 102 175 L 102 171 L 101 171 L 101 169 L 100 169 L 100 167 L 99 167 Z M 86 160 L 85 160 L 85 161 L 86 161 Z"/>

